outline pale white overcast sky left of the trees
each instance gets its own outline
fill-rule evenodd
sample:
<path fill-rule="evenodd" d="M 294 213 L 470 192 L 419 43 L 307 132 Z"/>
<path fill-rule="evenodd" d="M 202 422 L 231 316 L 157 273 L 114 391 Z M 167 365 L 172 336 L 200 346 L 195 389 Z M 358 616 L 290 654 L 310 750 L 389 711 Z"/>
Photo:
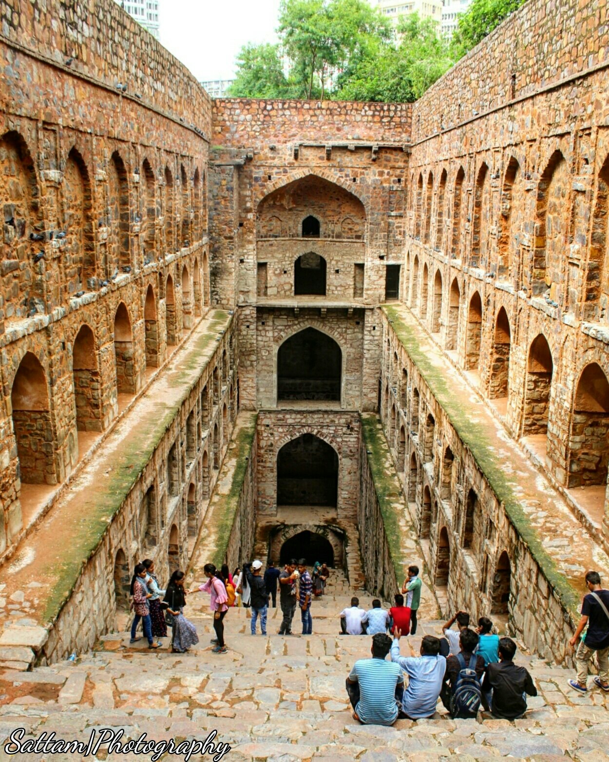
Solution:
<path fill-rule="evenodd" d="M 276 42 L 279 0 L 159 0 L 161 43 L 197 79 L 231 79 L 248 42 Z"/>

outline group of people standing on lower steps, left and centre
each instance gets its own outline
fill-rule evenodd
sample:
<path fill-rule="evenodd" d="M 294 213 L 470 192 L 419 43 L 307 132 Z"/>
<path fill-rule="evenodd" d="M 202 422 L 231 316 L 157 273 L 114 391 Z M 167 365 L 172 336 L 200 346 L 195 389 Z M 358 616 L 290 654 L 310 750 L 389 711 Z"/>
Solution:
<path fill-rule="evenodd" d="M 228 609 L 243 605 L 251 610 L 250 628 L 252 635 L 260 632 L 266 635 L 266 617 L 270 600 L 276 607 L 277 584 L 279 583 L 279 603 L 282 608 L 282 624 L 279 635 L 292 635 L 292 620 L 296 606 L 301 610 L 302 634 L 310 635 L 313 629 L 311 601 L 324 594 L 330 570 L 319 562 L 314 564 L 309 574 L 305 559 L 292 560 L 282 571 L 269 562 L 262 574 L 262 562 L 256 560 L 236 568 L 234 573 L 228 565 L 219 570 L 212 563 L 203 567 L 207 581 L 199 587 L 187 590 L 183 571 L 174 571 L 165 590 L 161 590 L 155 575 L 155 563 L 145 559 L 136 565 L 131 580 L 132 610 L 135 616 L 131 625 L 131 643 L 141 640 L 137 636 L 142 623 L 148 648 L 161 648 L 161 638 L 167 637 L 167 627 L 171 627 L 171 652 L 184 653 L 199 642 L 196 627 L 184 616 L 186 597 L 196 592 L 209 593 L 213 614 L 215 638 L 212 652 L 225 654 L 228 648 L 224 638 L 224 620 Z M 161 600 L 162 597 L 162 600 Z"/>

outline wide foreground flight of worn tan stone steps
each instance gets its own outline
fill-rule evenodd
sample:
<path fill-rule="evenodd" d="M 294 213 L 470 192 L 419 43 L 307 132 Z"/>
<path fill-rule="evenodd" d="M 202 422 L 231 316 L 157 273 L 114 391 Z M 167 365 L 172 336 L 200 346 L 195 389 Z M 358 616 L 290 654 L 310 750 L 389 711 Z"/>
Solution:
<path fill-rule="evenodd" d="M 155 741 L 205 740 L 215 729 L 217 740 L 231 745 L 222 757 L 229 762 L 392 762 L 454 755 L 459 760 L 607 760 L 609 696 L 598 689 L 576 694 L 567 687 L 569 670 L 520 652 L 518 662 L 527 665 L 539 690 L 523 719 L 512 723 L 480 714 L 476 720 L 455 722 L 438 704 L 429 720 L 398 720 L 393 728 L 359 725 L 352 719 L 344 682 L 353 662 L 369 655 L 370 639 L 338 635 L 337 616 L 351 595 L 346 579 L 336 572 L 327 595 L 314 600 L 314 633 L 307 637 L 276 634 L 279 608 L 270 610 L 268 635 L 251 636 L 249 612 L 231 609 L 225 619 L 230 650 L 215 655 L 209 645 L 209 597 L 193 594 L 186 613 L 196 623 L 200 642 L 188 654 L 149 652 L 145 641 L 129 645 L 129 633 L 120 632 L 105 636 L 94 652 L 74 663 L 6 670 L 0 675 L 2 746 L 14 728 L 25 728 L 27 738 L 54 731 L 56 738 L 81 741 L 94 728 L 123 728 L 123 743 L 144 732 Z M 360 599 L 370 606 L 368 594 Z M 418 652 L 424 634 L 438 634 L 440 623 L 422 619 L 417 636 L 402 640 L 403 654 Z M 299 624 L 297 613 L 295 632 Z M 50 759 L 43 754 L 15 758 Z M 101 753 L 98 758 L 142 760 L 150 755 Z"/>

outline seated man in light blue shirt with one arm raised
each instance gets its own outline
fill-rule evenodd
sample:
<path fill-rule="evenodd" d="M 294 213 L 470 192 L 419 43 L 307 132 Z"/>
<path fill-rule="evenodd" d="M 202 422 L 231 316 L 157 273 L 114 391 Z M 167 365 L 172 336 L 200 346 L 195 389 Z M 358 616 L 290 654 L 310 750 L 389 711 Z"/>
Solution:
<path fill-rule="evenodd" d="M 420 656 L 400 656 L 400 629 L 394 632 L 391 661 L 400 664 L 408 675 L 402 712 L 410 719 L 432 717 L 444 683 L 446 659 L 440 655 L 440 640 L 426 635 L 421 641 Z"/>

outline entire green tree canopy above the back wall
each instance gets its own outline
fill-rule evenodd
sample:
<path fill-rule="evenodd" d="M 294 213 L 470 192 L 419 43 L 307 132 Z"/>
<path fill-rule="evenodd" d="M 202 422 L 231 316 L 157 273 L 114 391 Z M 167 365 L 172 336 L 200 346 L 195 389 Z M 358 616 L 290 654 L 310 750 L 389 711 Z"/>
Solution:
<path fill-rule="evenodd" d="M 416 101 L 525 0 L 473 0 L 449 42 L 418 14 L 395 29 L 366 0 L 282 0 L 279 43 L 238 55 L 236 98 Z"/>

